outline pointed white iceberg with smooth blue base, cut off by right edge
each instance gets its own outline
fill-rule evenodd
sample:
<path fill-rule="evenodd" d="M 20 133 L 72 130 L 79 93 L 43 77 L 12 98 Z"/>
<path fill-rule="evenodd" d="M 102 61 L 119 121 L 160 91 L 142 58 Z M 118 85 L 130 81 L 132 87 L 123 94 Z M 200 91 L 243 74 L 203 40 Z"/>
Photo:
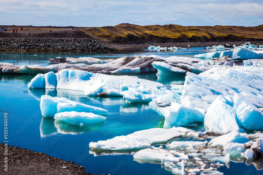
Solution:
<path fill-rule="evenodd" d="M 236 107 L 237 118 L 242 126 L 248 130 L 263 129 L 262 111 L 237 94 L 235 94 L 233 100 Z"/>

